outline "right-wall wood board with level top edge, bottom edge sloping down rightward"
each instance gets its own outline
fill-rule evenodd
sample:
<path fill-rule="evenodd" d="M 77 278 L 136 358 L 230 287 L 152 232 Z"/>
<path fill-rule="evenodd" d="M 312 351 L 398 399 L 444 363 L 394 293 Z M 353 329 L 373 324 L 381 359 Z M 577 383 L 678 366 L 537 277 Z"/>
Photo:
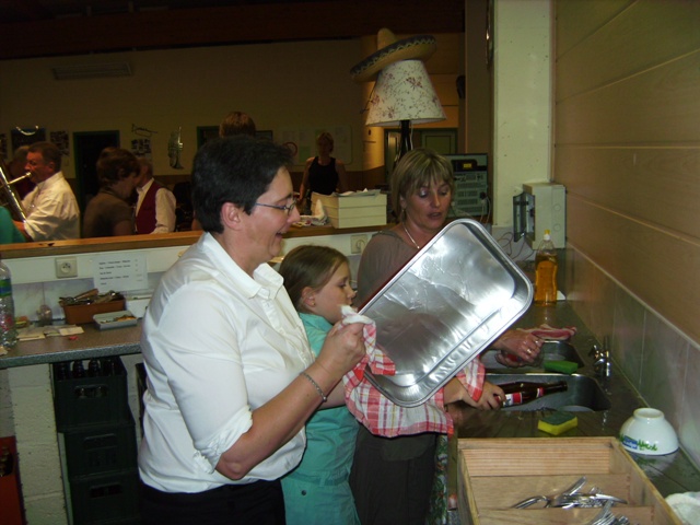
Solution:
<path fill-rule="evenodd" d="M 700 149 L 558 147 L 555 175 L 602 207 L 700 237 Z"/>

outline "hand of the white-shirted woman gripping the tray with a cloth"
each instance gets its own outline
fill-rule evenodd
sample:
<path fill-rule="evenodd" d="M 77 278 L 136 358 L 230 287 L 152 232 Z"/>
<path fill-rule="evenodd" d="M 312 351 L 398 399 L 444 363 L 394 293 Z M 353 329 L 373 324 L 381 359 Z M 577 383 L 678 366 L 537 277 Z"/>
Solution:
<path fill-rule="evenodd" d="M 343 325 L 342 322 L 328 331 L 316 363 L 334 377 L 350 372 L 366 353 L 362 330 L 363 323 Z"/>

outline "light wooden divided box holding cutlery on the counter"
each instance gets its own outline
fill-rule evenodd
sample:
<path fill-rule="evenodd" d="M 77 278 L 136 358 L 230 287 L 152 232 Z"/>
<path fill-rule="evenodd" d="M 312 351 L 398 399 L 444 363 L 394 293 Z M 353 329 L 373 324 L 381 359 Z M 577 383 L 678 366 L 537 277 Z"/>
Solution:
<path fill-rule="evenodd" d="M 512 509 L 535 494 L 555 494 L 581 476 L 640 525 L 681 525 L 664 498 L 615 438 L 459 440 L 459 517 L 463 525 L 585 525 L 600 509 Z M 537 506 L 537 505 L 535 505 Z"/>

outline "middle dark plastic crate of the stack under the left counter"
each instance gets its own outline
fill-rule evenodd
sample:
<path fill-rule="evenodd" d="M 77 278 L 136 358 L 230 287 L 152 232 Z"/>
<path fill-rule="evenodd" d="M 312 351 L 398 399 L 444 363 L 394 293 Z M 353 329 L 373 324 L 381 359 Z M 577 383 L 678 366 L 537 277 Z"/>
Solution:
<path fill-rule="evenodd" d="M 133 420 L 59 434 L 68 476 L 92 476 L 137 468 Z"/>

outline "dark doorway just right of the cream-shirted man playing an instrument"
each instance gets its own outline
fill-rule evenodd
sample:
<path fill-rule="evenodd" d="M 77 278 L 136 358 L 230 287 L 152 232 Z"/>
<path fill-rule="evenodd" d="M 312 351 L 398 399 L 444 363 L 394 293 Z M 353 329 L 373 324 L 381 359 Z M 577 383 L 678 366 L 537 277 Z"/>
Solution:
<path fill-rule="evenodd" d="M 78 206 L 81 214 L 85 206 L 100 190 L 97 158 L 105 148 L 119 147 L 119 131 L 80 131 L 73 133 L 75 154 L 75 179 L 78 182 Z"/>

